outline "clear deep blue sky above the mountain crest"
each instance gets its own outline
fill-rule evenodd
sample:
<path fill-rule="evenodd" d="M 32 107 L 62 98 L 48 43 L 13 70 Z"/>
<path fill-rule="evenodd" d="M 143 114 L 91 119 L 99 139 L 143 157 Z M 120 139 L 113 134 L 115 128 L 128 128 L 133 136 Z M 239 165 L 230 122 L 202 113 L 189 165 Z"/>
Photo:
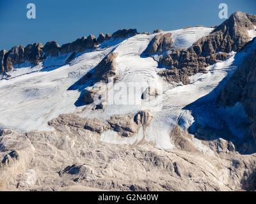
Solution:
<path fill-rule="evenodd" d="M 36 19 L 26 17 L 27 4 L 35 3 Z M 255 0 L 1 0 L 0 50 L 15 45 L 60 45 L 81 36 L 112 34 L 118 29 L 136 28 L 170 31 L 188 25 L 219 25 L 218 5 L 228 5 L 228 16 L 240 10 L 256 15 Z"/>

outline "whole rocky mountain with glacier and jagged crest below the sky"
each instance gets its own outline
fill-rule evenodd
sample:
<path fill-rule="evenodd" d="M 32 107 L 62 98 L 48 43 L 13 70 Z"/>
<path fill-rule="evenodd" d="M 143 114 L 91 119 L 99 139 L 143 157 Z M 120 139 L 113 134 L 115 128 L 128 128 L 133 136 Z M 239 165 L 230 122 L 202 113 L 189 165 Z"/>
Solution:
<path fill-rule="evenodd" d="M 256 16 L 0 51 L 0 190 L 256 189 Z"/>

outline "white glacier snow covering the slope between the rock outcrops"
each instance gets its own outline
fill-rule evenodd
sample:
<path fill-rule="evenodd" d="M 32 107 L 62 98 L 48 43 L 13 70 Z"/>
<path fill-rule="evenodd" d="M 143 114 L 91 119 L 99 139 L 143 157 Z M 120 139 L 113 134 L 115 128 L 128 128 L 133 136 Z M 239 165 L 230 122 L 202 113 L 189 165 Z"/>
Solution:
<path fill-rule="evenodd" d="M 188 48 L 211 31 L 211 28 L 191 27 L 163 33 L 172 33 L 175 47 Z M 28 63 L 15 67 L 10 73 L 12 78 L 0 80 L 0 128 L 15 129 L 19 132 L 42 131 L 48 130 L 47 122 L 58 117 L 61 113 L 75 113 L 80 117 L 106 121 L 112 115 L 135 114 L 140 110 L 150 110 L 153 120 L 147 129 L 141 128 L 131 138 L 121 138 L 114 131 L 106 131 L 101 135 L 102 141 L 134 144 L 145 140 L 161 149 L 173 149 L 170 130 L 177 124 L 188 130 L 195 120 L 198 120 L 198 118 L 195 119 L 196 115 L 203 112 L 200 120 L 205 120 L 205 123 L 214 127 L 221 125 L 221 120 L 218 117 L 223 117 L 223 120 L 234 117 L 235 113 L 230 113 L 228 116 L 225 115 L 227 112 L 224 112 L 225 117 L 221 115 L 223 112 L 216 114 L 215 117 L 207 115 L 210 112 L 218 113 L 218 110 L 213 105 L 211 106 L 211 103 L 208 103 L 208 101 L 211 102 L 216 98 L 217 94 L 211 95 L 212 98 L 203 97 L 214 93 L 214 90 L 220 90 L 223 79 L 230 77 L 248 52 L 239 54 L 232 52 L 227 61 L 218 62 L 207 68 L 208 73 L 200 73 L 191 77 L 191 84 L 173 86 L 157 75 L 159 68 L 152 57 L 141 57 L 142 52 L 155 35 L 137 34 L 123 41 L 105 42 L 92 52 L 77 55 L 67 65 L 64 64 L 68 55 L 59 55 L 58 57 L 48 57 L 33 68 Z M 122 84 L 127 85 L 129 90 L 136 89 L 140 84 L 142 90 L 145 90 L 149 85 L 156 87 L 161 95 L 152 103 L 132 104 L 131 101 L 128 105 L 108 105 L 104 110 L 97 111 L 92 110 L 90 105 L 86 110 L 84 110 L 84 106 L 76 106 L 75 103 L 81 92 L 80 90 L 68 90 L 68 88 L 97 66 L 109 52 L 118 52 L 118 57 L 116 57 L 117 75 L 120 76 L 120 80 L 110 89 L 110 92 L 117 89 L 116 87 L 122 87 Z M 140 99 L 141 91 L 135 92 L 134 98 Z M 198 111 L 204 110 L 203 112 L 195 113 L 192 109 L 186 108 L 200 98 L 202 98 L 200 103 L 207 103 L 208 105 L 197 105 L 200 106 Z M 205 112 L 206 109 L 208 111 Z M 236 110 L 234 111 L 236 112 Z M 244 122 L 242 120 L 241 122 Z M 236 126 L 239 127 L 239 125 L 238 123 Z M 237 133 L 239 136 L 240 132 Z M 207 149 L 199 140 L 196 138 L 192 140 L 202 152 L 211 153 L 211 150 Z"/>

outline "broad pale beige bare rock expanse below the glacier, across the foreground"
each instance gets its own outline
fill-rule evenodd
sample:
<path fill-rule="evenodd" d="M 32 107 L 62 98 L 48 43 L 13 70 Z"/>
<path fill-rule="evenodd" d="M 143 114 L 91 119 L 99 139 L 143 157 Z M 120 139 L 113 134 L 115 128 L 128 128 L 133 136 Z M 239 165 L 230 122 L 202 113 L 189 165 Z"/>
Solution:
<path fill-rule="evenodd" d="M 143 144 L 113 145 L 84 129 L 79 117 L 53 121 L 54 131 L 0 133 L 0 161 L 13 155 L 12 163 L 0 164 L 0 191 L 61 191 L 63 186 L 76 191 L 255 189 L 254 154 L 214 156 Z"/>

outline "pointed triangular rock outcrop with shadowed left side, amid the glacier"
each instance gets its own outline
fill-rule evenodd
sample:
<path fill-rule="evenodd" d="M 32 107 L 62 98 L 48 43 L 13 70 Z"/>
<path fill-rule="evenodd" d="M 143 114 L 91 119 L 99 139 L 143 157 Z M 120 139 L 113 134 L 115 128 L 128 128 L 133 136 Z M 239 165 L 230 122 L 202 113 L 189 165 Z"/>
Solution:
<path fill-rule="evenodd" d="M 96 82 L 105 82 L 108 83 L 109 77 L 114 77 L 116 75 L 116 57 L 117 52 L 111 52 L 108 54 L 99 64 L 93 69 L 84 75 L 81 78 L 80 84 L 84 84 L 86 80 L 93 80 L 94 83 Z"/>

